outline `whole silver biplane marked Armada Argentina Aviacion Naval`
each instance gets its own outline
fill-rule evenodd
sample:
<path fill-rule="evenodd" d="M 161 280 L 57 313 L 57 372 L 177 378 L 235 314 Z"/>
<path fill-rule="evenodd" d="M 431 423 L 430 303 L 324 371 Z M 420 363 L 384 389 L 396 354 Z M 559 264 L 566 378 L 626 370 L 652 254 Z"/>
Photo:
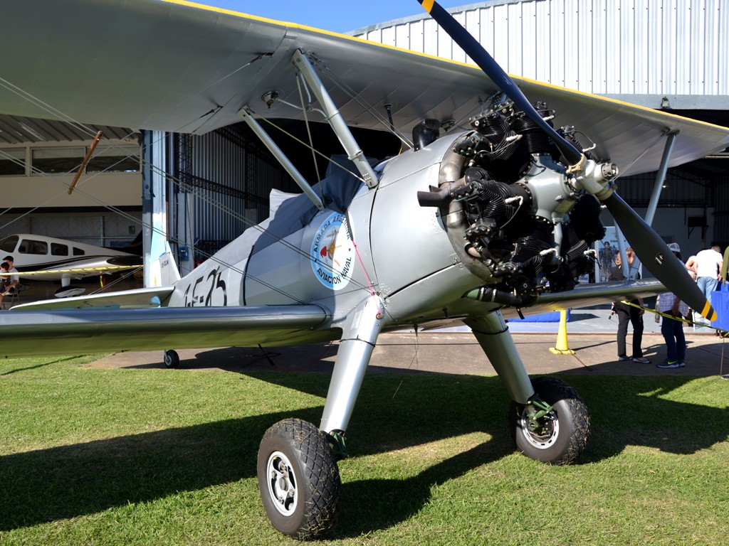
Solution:
<path fill-rule="evenodd" d="M 168 285 L 0 317 L 7 356 L 163 349 L 175 365 L 175 348 L 338 340 L 319 426 L 273 424 L 258 452 L 265 512 L 299 539 L 334 525 L 338 462 L 381 333 L 465 323 L 512 398 L 517 448 L 567 464 L 588 441 L 588 409 L 564 381 L 530 379 L 505 317 L 666 289 L 715 317 L 617 180 L 658 170 L 657 143 L 671 139 L 679 165 L 725 149 L 729 130 L 508 76 L 421 3 L 477 66 L 182 0 L 4 7 L 4 113 L 190 133 L 242 120 L 299 184 L 182 279 L 165 253 Z M 264 119 L 328 123 L 346 159 L 308 181 Z M 367 157 L 351 127 L 392 132 L 402 149 Z M 657 280 L 578 285 L 602 206 Z"/>

